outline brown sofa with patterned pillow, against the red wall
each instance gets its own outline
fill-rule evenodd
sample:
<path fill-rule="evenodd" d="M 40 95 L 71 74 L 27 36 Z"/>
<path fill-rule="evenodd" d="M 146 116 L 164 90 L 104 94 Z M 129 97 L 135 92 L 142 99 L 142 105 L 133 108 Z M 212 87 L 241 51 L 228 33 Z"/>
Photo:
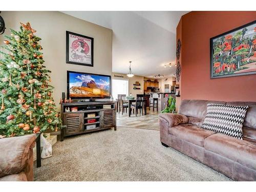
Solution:
<path fill-rule="evenodd" d="M 208 102 L 248 105 L 243 140 L 202 130 Z M 178 114 L 160 114 L 160 139 L 183 154 L 237 181 L 256 181 L 256 102 L 183 100 Z"/>

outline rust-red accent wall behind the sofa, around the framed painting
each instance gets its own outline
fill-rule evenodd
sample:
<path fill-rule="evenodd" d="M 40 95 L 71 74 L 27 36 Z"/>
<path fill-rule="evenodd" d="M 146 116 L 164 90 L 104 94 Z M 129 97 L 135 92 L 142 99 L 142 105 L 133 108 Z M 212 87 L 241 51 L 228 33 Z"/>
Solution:
<path fill-rule="evenodd" d="M 209 45 L 211 37 L 255 19 L 256 11 L 195 11 L 182 16 L 182 100 L 256 101 L 256 75 L 210 79 Z"/>

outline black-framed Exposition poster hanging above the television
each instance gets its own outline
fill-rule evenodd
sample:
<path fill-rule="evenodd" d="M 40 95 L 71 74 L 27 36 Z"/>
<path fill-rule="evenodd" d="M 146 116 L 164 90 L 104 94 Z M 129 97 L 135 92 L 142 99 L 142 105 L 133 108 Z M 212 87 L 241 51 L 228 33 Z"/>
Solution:
<path fill-rule="evenodd" d="M 93 67 L 93 38 L 66 31 L 66 62 Z"/>

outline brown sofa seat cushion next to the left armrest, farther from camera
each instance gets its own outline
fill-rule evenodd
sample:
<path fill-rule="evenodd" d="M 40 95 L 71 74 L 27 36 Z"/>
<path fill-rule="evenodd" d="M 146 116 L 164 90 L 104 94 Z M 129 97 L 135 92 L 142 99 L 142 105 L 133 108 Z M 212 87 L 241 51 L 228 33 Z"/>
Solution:
<path fill-rule="evenodd" d="M 212 134 L 212 131 L 202 130 L 200 127 L 192 124 L 182 124 L 168 128 L 169 134 L 178 137 L 181 140 L 204 146 L 204 139 Z"/>

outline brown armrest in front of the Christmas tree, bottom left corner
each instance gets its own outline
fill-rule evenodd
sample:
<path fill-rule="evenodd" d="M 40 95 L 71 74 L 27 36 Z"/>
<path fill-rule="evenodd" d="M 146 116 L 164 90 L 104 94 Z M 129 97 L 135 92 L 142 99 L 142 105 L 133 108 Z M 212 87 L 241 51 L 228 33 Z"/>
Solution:
<path fill-rule="evenodd" d="M 35 134 L 0 139 L 0 177 L 22 172 L 35 146 Z"/>

